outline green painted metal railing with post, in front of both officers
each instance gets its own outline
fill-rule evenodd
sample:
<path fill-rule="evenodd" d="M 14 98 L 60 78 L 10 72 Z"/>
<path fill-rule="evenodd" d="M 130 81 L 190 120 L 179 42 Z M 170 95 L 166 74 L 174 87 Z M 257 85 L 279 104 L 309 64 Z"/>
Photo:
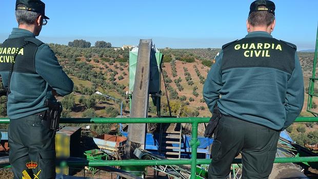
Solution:
<path fill-rule="evenodd" d="M 208 117 L 180 117 L 180 118 L 61 118 L 60 123 L 191 123 L 192 124 L 192 139 L 191 158 L 187 160 L 122 160 L 122 161 L 70 161 L 69 166 L 154 166 L 154 165 L 191 165 L 191 178 L 194 179 L 196 172 L 196 165 L 209 164 L 211 160 L 197 159 L 197 146 L 200 142 L 197 140 L 197 126 L 199 123 L 207 123 Z M 295 122 L 318 122 L 318 117 L 298 117 Z M 0 118 L 0 124 L 9 124 L 8 118 Z M 275 158 L 275 163 L 299 163 L 299 162 L 318 162 L 318 156 L 314 157 L 284 157 Z M 235 159 L 235 164 L 240 164 L 240 159 Z"/>

